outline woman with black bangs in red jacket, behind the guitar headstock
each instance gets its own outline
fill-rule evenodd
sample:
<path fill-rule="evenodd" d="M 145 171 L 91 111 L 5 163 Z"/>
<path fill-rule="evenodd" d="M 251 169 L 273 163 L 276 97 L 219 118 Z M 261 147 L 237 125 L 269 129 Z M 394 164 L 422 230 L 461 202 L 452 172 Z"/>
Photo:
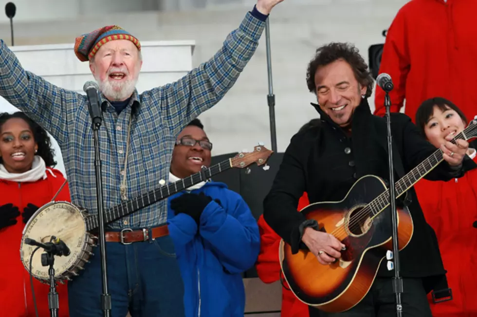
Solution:
<path fill-rule="evenodd" d="M 435 147 L 449 133 L 464 129 L 467 119 L 451 101 L 425 100 L 416 113 L 416 125 Z M 467 155 L 477 162 L 476 149 Z M 477 316 L 477 169 L 448 182 L 421 180 L 414 185 L 424 216 L 436 232 L 453 300 L 429 302 L 434 317 Z"/>

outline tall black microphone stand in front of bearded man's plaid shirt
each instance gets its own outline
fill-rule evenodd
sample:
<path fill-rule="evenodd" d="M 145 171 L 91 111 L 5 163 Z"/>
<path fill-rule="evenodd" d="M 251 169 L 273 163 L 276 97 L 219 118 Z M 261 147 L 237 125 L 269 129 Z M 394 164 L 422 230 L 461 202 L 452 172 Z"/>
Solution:
<path fill-rule="evenodd" d="M 98 208 L 98 220 L 99 220 L 99 252 L 101 256 L 101 280 L 103 285 L 103 293 L 101 294 L 101 308 L 104 312 L 105 317 L 110 317 L 111 315 L 111 295 L 108 292 L 108 271 L 106 267 L 106 238 L 104 231 L 104 208 L 103 208 L 103 182 L 101 175 L 101 157 L 99 156 L 99 137 L 98 132 L 101 127 L 101 116 L 96 116 L 93 107 L 98 107 L 97 105 L 90 105 L 90 114 L 92 118 L 92 129 L 93 129 L 93 138 L 94 138 L 94 171 L 96 174 L 96 197 L 97 197 L 97 208 Z"/>

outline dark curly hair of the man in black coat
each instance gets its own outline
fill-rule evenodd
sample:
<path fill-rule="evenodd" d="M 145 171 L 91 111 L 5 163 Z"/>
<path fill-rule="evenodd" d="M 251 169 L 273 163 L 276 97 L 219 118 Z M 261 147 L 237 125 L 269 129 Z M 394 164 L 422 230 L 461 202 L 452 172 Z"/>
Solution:
<path fill-rule="evenodd" d="M 346 61 L 353 69 L 354 77 L 358 83 L 367 87 L 365 97 L 371 96 L 374 85 L 373 77 L 359 50 L 350 43 L 330 43 L 316 50 L 307 69 L 307 85 L 310 92 L 316 94 L 316 70 L 339 59 Z"/>

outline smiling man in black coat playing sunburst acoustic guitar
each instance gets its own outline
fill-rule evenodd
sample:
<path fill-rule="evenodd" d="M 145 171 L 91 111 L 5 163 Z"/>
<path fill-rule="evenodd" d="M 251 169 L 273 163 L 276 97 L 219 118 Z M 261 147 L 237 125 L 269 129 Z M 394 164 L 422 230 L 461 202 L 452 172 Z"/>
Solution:
<path fill-rule="evenodd" d="M 383 232 L 391 232 L 390 214 L 380 214 L 385 207 L 373 211 L 376 204 L 371 203 L 351 209 L 355 200 L 360 201 L 368 192 L 373 192 L 375 184 L 385 188 L 385 180 L 389 178 L 385 119 L 372 115 L 367 103 L 373 88 L 372 77 L 355 47 L 331 43 L 316 50 L 308 66 L 307 83 L 317 97 L 318 104 L 312 105 L 320 114 L 320 125 L 293 136 L 264 200 L 265 220 L 286 242 L 283 248 L 286 261 L 282 267 L 285 278 L 294 294 L 310 304 L 310 316 L 395 316 L 394 272 L 386 268 L 385 260 L 381 261 L 386 250 L 364 248 Z M 391 130 L 395 174 L 399 180 L 411 169 L 422 167 L 420 163 L 436 152 L 436 148 L 404 114 L 391 115 Z M 429 180 L 450 180 L 475 167 L 472 160 L 465 157 L 468 148 L 465 140 L 458 139 L 454 144 L 450 142 L 451 136 L 446 139 L 448 142 L 440 148 L 445 162 L 422 172 L 420 177 L 427 173 L 424 177 Z M 367 177 L 374 183 L 360 186 L 358 183 L 366 175 L 375 175 L 384 181 Z M 397 204 L 400 230 L 401 224 L 410 224 L 410 230 L 400 231 L 400 239 L 407 236 L 410 240 L 406 241 L 407 245 L 402 245 L 400 240 L 399 245 L 400 250 L 405 247 L 400 252 L 403 316 L 431 317 L 426 294 L 439 288 L 437 282 L 445 278 L 445 270 L 435 233 L 425 222 L 415 192 L 412 188 L 405 189 L 409 194 L 407 199 Z M 303 192 L 308 193 L 311 203 L 329 202 L 326 206 L 330 208 L 297 213 Z M 355 192 L 358 195 L 352 196 Z M 383 197 L 377 198 L 384 200 Z M 333 201 L 336 203 L 330 203 Z M 351 204 L 346 205 L 348 202 Z M 318 210 L 319 206 L 315 204 L 307 209 Z M 343 212 L 335 212 L 338 209 Z M 410 215 L 403 210 L 409 210 Z M 327 225 L 330 219 L 334 221 L 333 226 Z M 368 240 L 363 243 L 360 237 Z M 381 245 L 392 250 L 390 234 L 386 238 L 383 239 L 386 244 Z M 360 256 L 363 256 L 361 262 Z M 301 263 L 305 264 L 295 269 Z M 366 274 L 358 271 L 363 267 Z M 315 276 L 315 270 L 323 274 Z M 354 270 L 361 275 L 351 274 Z M 339 272 L 343 275 L 337 275 Z M 348 284 L 350 286 L 345 287 Z"/>

